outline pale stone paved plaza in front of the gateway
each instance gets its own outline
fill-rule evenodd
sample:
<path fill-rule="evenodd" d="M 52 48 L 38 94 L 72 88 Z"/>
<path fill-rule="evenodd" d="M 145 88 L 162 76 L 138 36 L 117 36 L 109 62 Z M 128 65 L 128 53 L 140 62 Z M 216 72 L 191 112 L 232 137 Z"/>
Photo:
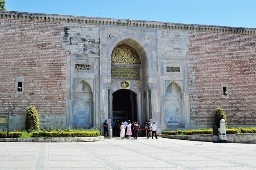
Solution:
<path fill-rule="evenodd" d="M 111 138 L 0 142 L 0 170 L 255 170 L 256 144 Z"/>

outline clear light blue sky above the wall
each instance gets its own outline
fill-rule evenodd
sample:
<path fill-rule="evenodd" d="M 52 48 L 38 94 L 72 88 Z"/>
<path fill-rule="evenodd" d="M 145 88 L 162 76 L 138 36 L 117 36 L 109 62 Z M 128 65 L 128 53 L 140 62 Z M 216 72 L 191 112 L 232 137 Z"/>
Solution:
<path fill-rule="evenodd" d="M 256 0 L 5 0 L 7 11 L 256 28 Z"/>

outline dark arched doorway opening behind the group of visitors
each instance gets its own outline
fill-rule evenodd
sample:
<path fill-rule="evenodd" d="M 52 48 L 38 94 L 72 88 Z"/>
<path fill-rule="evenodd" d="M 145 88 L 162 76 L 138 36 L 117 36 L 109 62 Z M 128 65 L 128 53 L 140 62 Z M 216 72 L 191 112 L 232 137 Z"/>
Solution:
<path fill-rule="evenodd" d="M 112 122 L 130 120 L 137 121 L 137 94 L 128 89 L 120 89 L 113 93 Z M 113 125 L 113 136 L 119 136 L 119 127 Z"/>

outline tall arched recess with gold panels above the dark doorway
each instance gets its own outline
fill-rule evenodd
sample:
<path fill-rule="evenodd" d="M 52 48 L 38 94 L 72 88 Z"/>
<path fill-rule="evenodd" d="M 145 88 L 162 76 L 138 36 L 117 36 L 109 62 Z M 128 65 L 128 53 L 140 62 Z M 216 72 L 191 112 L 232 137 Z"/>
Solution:
<path fill-rule="evenodd" d="M 140 57 L 133 47 L 126 43 L 115 46 L 111 54 L 111 82 L 117 88 L 112 89 L 113 136 L 119 136 L 119 126 L 114 122 L 138 121 L 137 94 L 131 89 L 135 83 L 141 84 L 140 68 Z"/>

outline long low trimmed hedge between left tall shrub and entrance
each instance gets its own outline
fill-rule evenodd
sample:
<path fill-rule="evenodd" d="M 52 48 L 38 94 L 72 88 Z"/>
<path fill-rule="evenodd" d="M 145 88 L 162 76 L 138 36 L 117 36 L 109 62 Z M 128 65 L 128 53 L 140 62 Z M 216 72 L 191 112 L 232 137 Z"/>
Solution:
<path fill-rule="evenodd" d="M 32 137 L 43 138 L 74 138 L 74 137 L 96 137 L 101 136 L 99 132 L 33 132 Z"/>

